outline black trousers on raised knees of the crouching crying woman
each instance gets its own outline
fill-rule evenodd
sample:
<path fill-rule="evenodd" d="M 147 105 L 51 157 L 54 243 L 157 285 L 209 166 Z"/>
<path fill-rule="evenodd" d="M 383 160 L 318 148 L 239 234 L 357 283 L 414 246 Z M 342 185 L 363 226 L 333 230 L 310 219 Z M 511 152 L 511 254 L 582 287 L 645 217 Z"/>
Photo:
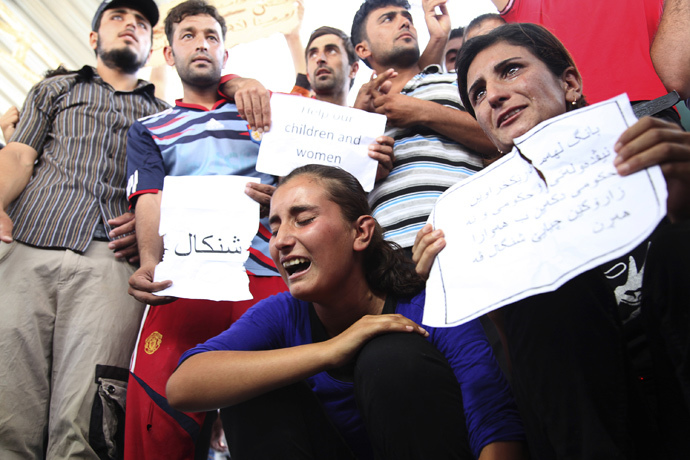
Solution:
<path fill-rule="evenodd" d="M 416 334 L 385 334 L 360 351 L 357 404 L 377 459 L 471 459 L 460 385 Z M 221 411 L 233 460 L 354 459 L 305 382 Z"/>

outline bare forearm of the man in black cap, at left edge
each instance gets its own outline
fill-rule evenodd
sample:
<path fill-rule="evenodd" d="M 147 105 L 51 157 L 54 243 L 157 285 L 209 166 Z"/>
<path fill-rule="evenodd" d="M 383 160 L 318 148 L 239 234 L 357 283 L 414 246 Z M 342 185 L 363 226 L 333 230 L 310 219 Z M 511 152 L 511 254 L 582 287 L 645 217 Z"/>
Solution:
<path fill-rule="evenodd" d="M 38 152 L 19 142 L 10 142 L 0 150 L 0 241 L 12 242 L 12 220 L 7 207 L 26 188 L 34 170 Z"/>

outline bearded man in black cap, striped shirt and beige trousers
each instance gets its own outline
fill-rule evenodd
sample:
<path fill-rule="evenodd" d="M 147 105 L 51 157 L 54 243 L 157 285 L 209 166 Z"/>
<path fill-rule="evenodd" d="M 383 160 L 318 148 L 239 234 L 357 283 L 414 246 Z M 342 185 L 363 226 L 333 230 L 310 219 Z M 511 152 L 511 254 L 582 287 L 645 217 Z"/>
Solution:
<path fill-rule="evenodd" d="M 143 312 L 126 289 L 125 144 L 136 119 L 167 107 L 136 76 L 157 21 L 153 0 L 101 3 L 96 67 L 38 83 L 0 151 L 2 459 L 117 455 Z"/>

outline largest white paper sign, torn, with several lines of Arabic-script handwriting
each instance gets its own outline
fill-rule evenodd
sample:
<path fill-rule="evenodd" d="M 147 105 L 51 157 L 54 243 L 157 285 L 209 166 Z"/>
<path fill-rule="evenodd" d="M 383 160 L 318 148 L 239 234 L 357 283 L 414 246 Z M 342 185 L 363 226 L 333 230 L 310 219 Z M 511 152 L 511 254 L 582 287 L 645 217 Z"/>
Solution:
<path fill-rule="evenodd" d="M 635 121 L 625 95 L 552 118 L 441 195 L 429 222 L 447 246 L 427 282 L 424 324 L 461 324 L 553 291 L 644 241 L 667 193 L 659 167 L 616 173 L 613 146 Z"/>

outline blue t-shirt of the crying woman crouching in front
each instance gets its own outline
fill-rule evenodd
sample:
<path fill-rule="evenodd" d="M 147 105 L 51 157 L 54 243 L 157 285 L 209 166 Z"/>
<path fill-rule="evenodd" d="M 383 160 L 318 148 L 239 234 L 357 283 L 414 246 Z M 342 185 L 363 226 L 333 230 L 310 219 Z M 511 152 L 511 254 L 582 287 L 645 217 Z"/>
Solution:
<path fill-rule="evenodd" d="M 421 324 L 425 293 L 398 301 L 396 313 Z M 522 422 L 484 331 L 477 321 L 451 328 L 425 327 L 428 340 L 445 355 L 455 373 L 465 409 L 469 441 L 475 456 L 496 441 L 525 439 Z M 187 351 L 180 363 L 197 353 L 218 350 L 271 350 L 312 343 L 309 302 L 288 292 L 251 307 L 230 329 Z M 327 372 L 306 379 L 357 458 L 373 458 L 355 403 L 352 383 Z"/>

